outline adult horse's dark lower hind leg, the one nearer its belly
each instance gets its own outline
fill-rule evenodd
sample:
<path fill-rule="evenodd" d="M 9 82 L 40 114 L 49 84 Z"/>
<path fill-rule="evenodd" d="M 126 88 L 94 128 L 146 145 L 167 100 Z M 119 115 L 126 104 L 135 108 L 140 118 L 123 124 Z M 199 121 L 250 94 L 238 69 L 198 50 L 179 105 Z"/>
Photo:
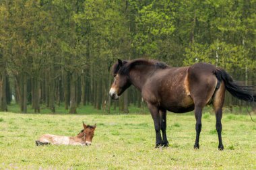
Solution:
<path fill-rule="evenodd" d="M 201 127 L 202 127 L 202 124 L 201 124 L 202 110 L 203 110 L 203 107 L 195 106 L 195 120 L 196 120 L 195 131 L 197 132 L 197 135 L 195 137 L 195 145 L 194 145 L 195 149 L 199 148 L 199 136 L 200 136 Z"/>

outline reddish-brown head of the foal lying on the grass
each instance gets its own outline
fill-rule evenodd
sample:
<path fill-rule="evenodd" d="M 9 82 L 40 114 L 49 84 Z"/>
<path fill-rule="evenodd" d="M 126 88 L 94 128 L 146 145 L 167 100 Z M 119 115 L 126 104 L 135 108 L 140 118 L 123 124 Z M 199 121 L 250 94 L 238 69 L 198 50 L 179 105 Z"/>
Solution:
<path fill-rule="evenodd" d="M 86 140 L 86 145 L 91 145 L 92 144 L 92 138 L 94 137 L 94 130 L 96 128 L 96 124 L 94 126 L 86 125 L 83 122 L 84 129 L 81 130 L 81 132 L 77 135 L 79 137 L 84 137 Z"/>

